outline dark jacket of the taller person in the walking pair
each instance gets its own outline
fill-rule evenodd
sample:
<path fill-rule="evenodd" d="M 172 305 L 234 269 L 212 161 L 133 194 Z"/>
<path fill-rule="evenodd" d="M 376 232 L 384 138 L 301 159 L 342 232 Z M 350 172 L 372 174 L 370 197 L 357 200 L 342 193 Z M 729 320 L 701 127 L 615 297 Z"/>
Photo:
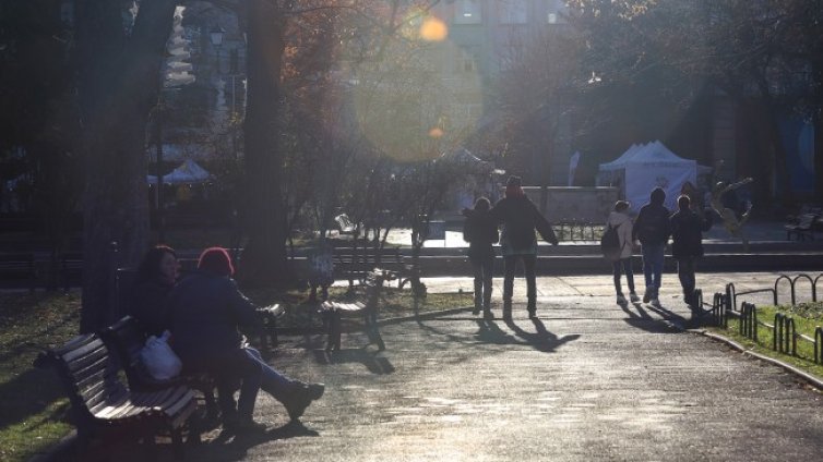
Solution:
<path fill-rule="evenodd" d="M 503 255 L 536 254 L 535 230 L 547 242 L 554 245 L 558 243 L 551 224 L 525 195 L 503 197 L 494 204 L 489 214 L 494 220 L 503 223 L 500 241 L 503 245 Z"/>

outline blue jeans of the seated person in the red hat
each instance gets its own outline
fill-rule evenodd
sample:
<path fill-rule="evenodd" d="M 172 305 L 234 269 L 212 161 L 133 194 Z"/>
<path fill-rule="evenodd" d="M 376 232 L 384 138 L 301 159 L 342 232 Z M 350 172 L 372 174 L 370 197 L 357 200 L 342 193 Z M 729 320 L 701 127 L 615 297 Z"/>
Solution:
<path fill-rule="evenodd" d="M 240 418 L 251 418 L 254 401 L 262 388 L 276 400 L 283 402 L 299 381 L 278 373 L 263 361 L 253 348 L 232 350 L 216 362 L 213 370 L 217 377 L 217 404 L 223 415 L 235 413 L 235 390 L 240 381 L 240 397 L 237 400 L 237 414 Z"/>

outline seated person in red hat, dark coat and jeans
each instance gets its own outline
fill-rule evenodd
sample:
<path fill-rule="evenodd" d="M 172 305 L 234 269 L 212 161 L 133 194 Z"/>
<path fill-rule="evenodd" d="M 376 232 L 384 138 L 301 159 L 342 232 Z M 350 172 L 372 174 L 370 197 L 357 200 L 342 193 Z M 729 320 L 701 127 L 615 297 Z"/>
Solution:
<path fill-rule="evenodd" d="M 289 417 L 296 420 L 323 394 L 324 386 L 284 376 L 247 345 L 241 332 L 257 331 L 260 318 L 257 306 L 231 279 L 234 272 L 225 248 L 211 247 L 202 253 L 198 270 L 183 278 L 167 299 L 171 346 L 184 369 L 217 378 L 224 427 L 259 430 L 265 427 L 252 420 L 259 389 L 283 403 Z M 235 408 L 238 381 L 240 397 Z"/>

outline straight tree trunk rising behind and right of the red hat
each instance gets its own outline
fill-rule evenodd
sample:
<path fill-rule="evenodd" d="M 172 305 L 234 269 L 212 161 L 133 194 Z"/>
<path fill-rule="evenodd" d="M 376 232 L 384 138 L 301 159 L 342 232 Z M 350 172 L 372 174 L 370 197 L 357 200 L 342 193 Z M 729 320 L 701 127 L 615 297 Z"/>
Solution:
<path fill-rule="evenodd" d="M 248 20 L 248 106 L 246 110 L 244 224 L 249 242 L 240 277 L 249 285 L 286 284 L 286 210 L 279 153 L 279 84 L 285 49 L 282 12 L 272 2 L 250 0 Z"/>

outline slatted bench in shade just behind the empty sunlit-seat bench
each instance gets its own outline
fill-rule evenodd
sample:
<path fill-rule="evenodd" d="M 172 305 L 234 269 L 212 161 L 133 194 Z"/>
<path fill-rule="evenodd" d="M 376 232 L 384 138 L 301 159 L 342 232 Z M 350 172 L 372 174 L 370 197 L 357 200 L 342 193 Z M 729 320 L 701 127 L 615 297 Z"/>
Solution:
<path fill-rule="evenodd" d="M 335 247 L 333 260 L 334 279 L 348 280 L 349 291 L 355 281 L 363 282 L 377 267 L 395 275 L 403 275 L 407 269 L 398 247 Z"/>

